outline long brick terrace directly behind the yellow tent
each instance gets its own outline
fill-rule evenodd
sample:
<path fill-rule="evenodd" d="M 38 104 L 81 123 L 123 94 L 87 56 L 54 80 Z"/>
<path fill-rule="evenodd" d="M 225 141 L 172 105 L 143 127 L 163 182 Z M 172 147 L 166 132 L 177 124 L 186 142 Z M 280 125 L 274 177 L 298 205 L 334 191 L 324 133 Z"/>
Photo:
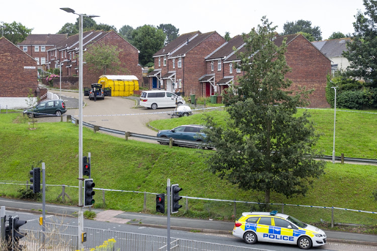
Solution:
<path fill-rule="evenodd" d="M 67 39 L 57 44 L 54 48 L 47 50 L 47 65 L 48 68 L 59 68 L 61 64 L 62 77 L 72 77 L 78 75 L 78 34 L 72 35 Z M 122 50 L 119 53 L 119 59 L 123 63 L 123 67 L 127 72 L 122 72 L 123 75 L 134 75 L 140 82 L 142 78 L 142 67 L 139 65 L 139 50 L 127 42 L 124 38 L 118 35 L 115 31 L 86 31 L 83 33 L 82 39 L 83 51 L 90 50 L 90 45 L 95 43 L 104 43 L 106 45 L 116 45 L 118 49 Z M 83 86 L 90 87 L 91 83 L 97 83 L 102 71 L 89 70 L 89 67 L 83 66 Z M 107 70 L 106 74 L 114 74 L 111 70 Z M 78 80 L 72 81 L 74 78 L 65 78 L 68 86 L 78 88 Z M 63 82 L 63 80 L 62 80 Z M 64 83 L 66 85 L 67 83 Z M 62 83 L 63 86 L 63 83 Z"/>

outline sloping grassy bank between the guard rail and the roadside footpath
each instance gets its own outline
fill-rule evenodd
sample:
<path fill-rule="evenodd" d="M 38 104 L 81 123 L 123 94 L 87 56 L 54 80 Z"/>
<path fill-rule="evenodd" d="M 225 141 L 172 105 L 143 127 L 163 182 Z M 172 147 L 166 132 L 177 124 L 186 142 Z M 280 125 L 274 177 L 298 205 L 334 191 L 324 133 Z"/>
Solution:
<path fill-rule="evenodd" d="M 28 130 L 28 123 L 18 116 L 19 114 L 0 114 L 0 182 L 25 183 L 30 178 L 31 166 L 43 161 L 46 165 L 47 184 L 77 186 L 78 127 L 66 122 L 38 123 L 37 130 Z M 199 121 L 199 117 L 195 115 L 188 118 Z M 224 119 L 224 116 L 222 118 Z M 184 119 L 187 118 L 167 120 L 179 124 L 199 123 L 196 120 Z M 347 151 L 351 153 L 351 150 Z M 166 179 L 170 178 L 172 184 L 179 183 L 183 188 L 181 194 L 184 196 L 258 202 L 263 198 L 262 193 L 240 190 L 208 172 L 205 160 L 213 151 L 179 147 L 170 149 L 155 144 L 125 141 L 101 133 L 95 134 L 84 128 L 84 155 L 87 152 L 91 153 L 92 178 L 96 188 L 163 193 Z M 374 154 L 365 151 L 365 156 L 370 158 Z M 375 166 L 329 163 L 325 171 L 326 174 L 314 182 L 314 188 L 307 196 L 287 199 L 272 193 L 271 202 L 376 211 L 377 202 L 371 198 L 371 192 L 377 183 Z M 0 184 L 0 195 L 20 197 L 20 187 L 24 186 Z M 49 186 L 47 202 L 61 203 L 61 199 L 56 198 L 60 192 L 60 186 Z M 66 193 L 72 199 L 67 203 L 76 205 L 77 188 L 66 188 Z M 107 191 L 104 204 L 102 193 L 96 191 L 95 199 L 95 207 L 124 211 L 143 210 L 143 193 Z M 184 200 L 181 201 L 183 204 Z M 178 215 L 234 220 L 243 211 L 258 210 L 258 206 L 254 204 L 236 203 L 236 207 L 237 213 L 233 215 L 233 202 L 190 199 L 189 211 L 185 213 L 183 206 Z M 154 213 L 154 208 L 155 195 L 147 194 L 146 212 Z M 280 205 L 273 208 L 281 211 Z M 325 221 L 331 219 L 329 209 L 285 206 L 284 211 L 306 222 L 320 222 L 321 218 Z M 335 210 L 334 215 L 335 222 L 368 225 L 377 222 L 376 214 Z"/>

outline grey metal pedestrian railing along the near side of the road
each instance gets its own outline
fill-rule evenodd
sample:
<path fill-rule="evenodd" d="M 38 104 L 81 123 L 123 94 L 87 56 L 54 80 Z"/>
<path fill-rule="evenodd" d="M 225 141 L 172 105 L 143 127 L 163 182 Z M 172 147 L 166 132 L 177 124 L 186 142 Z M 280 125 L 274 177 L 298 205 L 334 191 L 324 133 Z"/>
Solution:
<path fill-rule="evenodd" d="M 26 245 L 27 250 L 41 250 L 43 246 L 43 234 L 45 234 L 46 250 L 75 250 L 77 249 L 77 230 L 78 226 L 46 223 L 46 229 L 49 232 L 40 230 L 22 229 L 28 234 L 20 240 L 20 244 Z M 83 243 L 84 249 L 89 250 L 96 246 L 102 245 L 109 239 L 115 239 L 114 248 L 112 250 L 130 250 L 130 251 L 162 251 L 167 250 L 167 237 L 113 231 L 107 229 L 84 227 L 86 232 L 86 241 Z M 34 236 L 40 237 L 39 239 Z M 90 249 L 91 250 L 91 249 Z M 102 249 L 101 249 L 102 250 Z M 246 250 L 265 250 L 253 247 L 243 247 L 235 245 L 218 244 L 212 242 L 204 242 L 189 239 L 180 239 L 170 237 L 170 250 L 218 250 L 218 251 L 246 251 Z"/>

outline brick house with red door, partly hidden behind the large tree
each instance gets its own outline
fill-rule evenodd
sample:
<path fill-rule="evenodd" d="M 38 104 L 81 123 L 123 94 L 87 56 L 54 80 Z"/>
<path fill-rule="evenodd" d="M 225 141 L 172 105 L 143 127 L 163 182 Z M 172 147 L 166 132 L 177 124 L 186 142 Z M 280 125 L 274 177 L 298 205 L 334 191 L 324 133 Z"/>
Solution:
<path fill-rule="evenodd" d="M 295 91 L 301 86 L 314 88 L 309 95 L 310 107 L 330 107 L 326 101 L 325 87 L 326 75 L 331 72 L 331 60 L 300 34 L 277 36 L 273 41 L 276 46 L 281 46 L 285 38 L 288 45 L 286 60 L 292 68 L 292 72 L 286 75 L 292 80 L 290 89 Z M 242 37 L 236 36 L 206 57 L 207 72 L 200 77 L 206 86 L 206 96 L 210 93 L 221 94 L 231 84 L 239 84 L 237 78 L 244 73 L 235 67 L 240 60 L 232 48 L 234 46 L 244 52 L 244 45 Z"/>

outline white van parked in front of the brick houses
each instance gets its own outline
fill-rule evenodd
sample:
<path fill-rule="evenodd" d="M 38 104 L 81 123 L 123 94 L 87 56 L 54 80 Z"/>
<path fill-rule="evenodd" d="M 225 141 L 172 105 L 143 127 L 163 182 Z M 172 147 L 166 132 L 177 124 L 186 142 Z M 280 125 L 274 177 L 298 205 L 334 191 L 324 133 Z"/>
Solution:
<path fill-rule="evenodd" d="M 140 105 L 151 109 L 175 107 L 175 101 L 178 105 L 185 104 L 181 96 L 165 90 L 143 91 L 140 96 Z"/>

